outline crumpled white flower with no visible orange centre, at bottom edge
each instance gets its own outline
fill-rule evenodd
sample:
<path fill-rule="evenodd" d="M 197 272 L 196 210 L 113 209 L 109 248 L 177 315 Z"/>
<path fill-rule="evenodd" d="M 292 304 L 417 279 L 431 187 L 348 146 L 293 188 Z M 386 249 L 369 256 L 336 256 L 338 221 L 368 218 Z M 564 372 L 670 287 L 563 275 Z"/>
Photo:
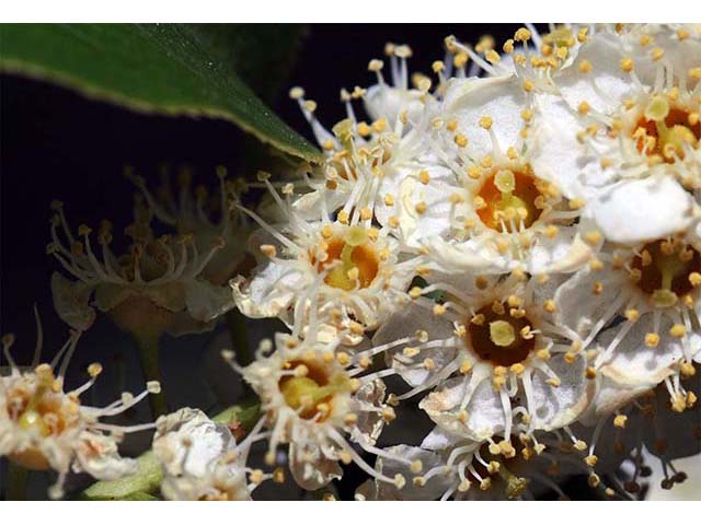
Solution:
<path fill-rule="evenodd" d="M 153 453 L 163 470 L 161 493 L 168 500 L 251 499 L 251 492 L 272 478 L 246 467 L 251 445 L 264 438 L 262 420 L 241 443 L 223 423 L 196 409 L 183 408 L 156 421 Z"/>

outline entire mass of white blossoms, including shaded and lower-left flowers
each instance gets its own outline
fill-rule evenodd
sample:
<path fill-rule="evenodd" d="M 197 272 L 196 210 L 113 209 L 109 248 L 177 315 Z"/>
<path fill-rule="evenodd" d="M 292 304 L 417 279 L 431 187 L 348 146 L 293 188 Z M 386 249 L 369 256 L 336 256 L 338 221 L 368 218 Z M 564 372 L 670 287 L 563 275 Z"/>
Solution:
<path fill-rule="evenodd" d="M 55 201 L 51 291 L 71 336 L 39 364 L 39 326 L 27 369 L 3 337 L 0 455 L 58 472 L 54 498 L 71 471 L 145 465 L 169 500 L 250 500 L 286 469 L 326 491 L 352 464 L 358 500 L 566 498 L 577 475 L 630 499 L 651 456 L 663 488 L 682 482 L 673 460 L 701 452 L 700 30 L 528 25 L 499 47 L 444 44 L 430 77 L 388 44 L 331 129 L 291 89 L 323 162 L 281 182 L 218 168 L 210 198 L 187 171 L 154 190 L 128 170 L 122 244 L 108 221 L 72 230 Z M 252 208 L 249 188 L 269 200 Z M 159 339 L 235 325 L 234 308 L 285 326 L 253 355 L 245 337 L 221 352 L 250 398 L 169 413 Z M 100 364 L 64 382 L 99 314 L 134 338 L 147 389 L 91 408 Z M 101 420 L 149 393 L 154 423 Z M 150 429 L 148 455 L 118 455 Z"/>

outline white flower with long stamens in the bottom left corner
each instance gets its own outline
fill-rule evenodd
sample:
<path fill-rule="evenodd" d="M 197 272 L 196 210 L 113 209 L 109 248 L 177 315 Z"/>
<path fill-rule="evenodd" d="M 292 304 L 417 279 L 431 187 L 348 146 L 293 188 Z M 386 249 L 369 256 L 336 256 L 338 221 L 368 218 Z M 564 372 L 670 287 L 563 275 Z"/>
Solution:
<path fill-rule="evenodd" d="M 57 471 L 58 481 L 49 490 L 53 499 L 62 497 L 62 486 L 71 470 L 84 471 L 97 479 L 116 479 L 136 472 L 136 460 L 119 457 L 117 443 L 125 433 L 150 429 L 152 424 L 119 427 L 101 422 L 100 418 L 122 413 L 149 393 L 160 392 L 159 384 L 150 382 L 138 396 L 124 393 L 119 400 L 105 408 L 82 405 L 80 396 L 95 383 L 102 366 L 91 364 L 87 383 L 73 390 L 64 390 L 64 377 L 79 335 L 71 336 L 50 364 L 38 364 L 39 331 L 34 362 L 24 371 L 10 354 L 14 337 L 2 338 L 10 370 L 0 376 L 0 456 L 8 456 L 27 469 Z"/>

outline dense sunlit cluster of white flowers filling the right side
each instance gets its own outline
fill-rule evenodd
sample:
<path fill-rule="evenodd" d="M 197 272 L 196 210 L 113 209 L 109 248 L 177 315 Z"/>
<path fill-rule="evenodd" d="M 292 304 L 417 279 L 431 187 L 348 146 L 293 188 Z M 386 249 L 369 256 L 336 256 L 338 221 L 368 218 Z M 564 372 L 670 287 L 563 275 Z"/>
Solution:
<path fill-rule="evenodd" d="M 235 304 L 290 330 L 248 366 L 225 352 L 262 400 L 267 462 L 288 445 L 310 490 L 354 462 L 359 499 L 529 498 L 573 474 L 630 497 L 644 446 L 663 487 L 682 481 L 670 462 L 701 436 L 701 34 L 445 47 L 430 78 L 388 44 L 330 130 L 290 90 L 325 160 L 277 187 L 258 174 L 275 221 L 237 205 L 260 230 Z M 391 376 L 406 386 L 387 395 Z M 378 446 L 410 398 L 434 430 Z"/>

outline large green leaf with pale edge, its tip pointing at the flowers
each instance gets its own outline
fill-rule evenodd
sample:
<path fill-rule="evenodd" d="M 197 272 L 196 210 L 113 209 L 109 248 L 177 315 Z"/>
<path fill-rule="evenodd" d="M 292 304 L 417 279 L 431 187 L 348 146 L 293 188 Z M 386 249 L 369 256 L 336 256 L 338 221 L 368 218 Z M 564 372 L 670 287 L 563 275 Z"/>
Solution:
<path fill-rule="evenodd" d="M 2 24 L 0 71 L 135 110 L 222 118 L 285 153 L 319 162 L 319 150 L 227 63 L 215 45 L 221 38 L 203 34 L 202 26 L 176 24 Z"/>

